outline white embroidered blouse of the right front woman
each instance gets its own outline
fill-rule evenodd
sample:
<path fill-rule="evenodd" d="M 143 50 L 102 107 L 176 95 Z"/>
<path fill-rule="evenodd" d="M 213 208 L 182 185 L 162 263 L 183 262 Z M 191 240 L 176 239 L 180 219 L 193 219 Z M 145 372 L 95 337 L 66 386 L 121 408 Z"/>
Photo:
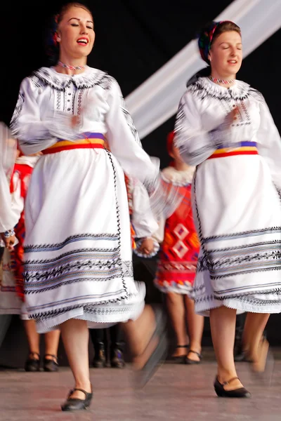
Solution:
<path fill-rule="evenodd" d="M 227 115 L 237 107 L 233 121 Z M 197 166 L 218 147 L 256 142 L 281 190 L 281 139 L 263 95 L 243 81 L 230 88 L 200 77 L 183 94 L 175 125 L 175 144 L 185 162 Z"/>

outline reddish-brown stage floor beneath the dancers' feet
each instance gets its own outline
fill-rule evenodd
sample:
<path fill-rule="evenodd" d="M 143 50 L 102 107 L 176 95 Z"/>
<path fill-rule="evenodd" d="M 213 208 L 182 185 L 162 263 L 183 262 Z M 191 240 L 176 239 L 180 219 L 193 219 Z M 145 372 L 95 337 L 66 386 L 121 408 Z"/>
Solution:
<path fill-rule="evenodd" d="M 72 387 L 69 368 L 58 373 L 0 371 L 0 421 L 280 421 L 281 358 L 275 350 L 271 382 L 238 363 L 251 399 L 219 399 L 212 386 L 214 354 L 204 350 L 200 366 L 165 363 L 141 392 L 131 388 L 131 370 L 91 368 L 94 398 L 91 409 L 63 413 L 60 403 Z"/>

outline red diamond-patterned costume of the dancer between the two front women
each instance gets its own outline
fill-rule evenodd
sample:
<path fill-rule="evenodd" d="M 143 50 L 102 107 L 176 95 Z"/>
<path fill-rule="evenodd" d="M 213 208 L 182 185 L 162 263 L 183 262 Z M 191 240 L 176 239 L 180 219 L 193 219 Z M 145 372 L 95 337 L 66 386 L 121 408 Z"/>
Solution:
<path fill-rule="evenodd" d="M 171 151 L 173 133 L 168 137 Z M 175 292 L 190 295 L 195 281 L 200 242 L 192 216 L 191 183 L 194 167 L 178 171 L 174 166 L 164 168 L 162 177 L 177 186 L 183 200 L 164 225 L 155 286 L 164 293 Z"/>

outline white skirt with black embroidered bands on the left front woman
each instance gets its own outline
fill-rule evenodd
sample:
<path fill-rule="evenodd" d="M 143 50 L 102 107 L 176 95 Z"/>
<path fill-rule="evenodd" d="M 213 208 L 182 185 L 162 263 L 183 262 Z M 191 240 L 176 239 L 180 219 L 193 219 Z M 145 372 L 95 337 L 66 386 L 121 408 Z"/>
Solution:
<path fill-rule="evenodd" d="M 39 333 L 68 319 L 98 328 L 138 318 L 145 286 L 133 280 L 124 173 L 110 152 L 41 156 L 25 224 L 25 303 Z"/>

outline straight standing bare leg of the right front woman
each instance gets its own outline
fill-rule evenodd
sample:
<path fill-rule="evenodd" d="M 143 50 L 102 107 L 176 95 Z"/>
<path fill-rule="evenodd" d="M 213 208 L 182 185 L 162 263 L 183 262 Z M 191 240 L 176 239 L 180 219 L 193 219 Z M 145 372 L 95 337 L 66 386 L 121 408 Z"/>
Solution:
<path fill-rule="evenodd" d="M 210 310 L 211 338 L 218 363 L 218 381 L 221 383 L 237 377 L 233 356 L 235 322 L 235 309 L 218 307 Z M 240 380 L 233 380 L 224 389 L 233 390 L 240 387 L 242 387 Z"/>

